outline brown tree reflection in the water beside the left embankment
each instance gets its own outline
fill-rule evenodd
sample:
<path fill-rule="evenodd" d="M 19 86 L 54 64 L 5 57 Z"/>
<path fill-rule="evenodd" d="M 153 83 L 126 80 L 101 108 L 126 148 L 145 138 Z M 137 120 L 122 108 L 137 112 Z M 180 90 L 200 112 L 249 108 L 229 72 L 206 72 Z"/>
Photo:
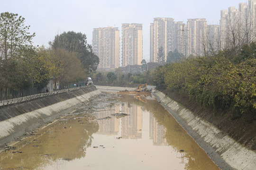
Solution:
<path fill-rule="evenodd" d="M 45 169 L 57 160 L 73 160 L 85 157 L 86 148 L 91 146 L 92 134 L 99 125 L 96 121 L 85 118 L 57 122 L 48 130 L 40 131 L 36 136 L 24 139 L 19 145 L 22 153 L 0 153 L 5 158 L 4 169 L 26 167 L 29 169 Z M 41 136 L 40 133 L 43 133 Z M 25 145 L 22 148 L 22 145 Z"/>

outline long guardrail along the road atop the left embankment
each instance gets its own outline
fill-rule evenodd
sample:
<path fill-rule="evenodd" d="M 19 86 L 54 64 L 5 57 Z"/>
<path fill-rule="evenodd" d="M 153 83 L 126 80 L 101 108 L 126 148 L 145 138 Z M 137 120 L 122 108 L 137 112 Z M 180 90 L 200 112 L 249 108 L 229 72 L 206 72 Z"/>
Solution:
<path fill-rule="evenodd" d="M 90 86 L 90 85 L 88 85 L 88 86 Z M 63 90 L 52 91 L 52 92 L 48 92 L 48 93 L 33 94 L 33 95 L 29 95 L 29 96 L 19 97 L 19 98 L 16 98 L 16 99 L 0 101 L 0 106 L 13 104 L 13 103 L 18 103 L 18 102 L 29 101 L 29 100 L 32 100 L 32 99 L 45 97 L 45 96 L 50 96 L 50 95 L 54 95 L 54 94 L 58 94 L 58 93 L 70 92 L 70 91 L 74 91 L 74 90 L 78 90 L 78 89 L 86 88 L 86 87 L 87 86 L 74 87 L 74 88 L 70 88 L 70 89 L 63 89 Z"/>

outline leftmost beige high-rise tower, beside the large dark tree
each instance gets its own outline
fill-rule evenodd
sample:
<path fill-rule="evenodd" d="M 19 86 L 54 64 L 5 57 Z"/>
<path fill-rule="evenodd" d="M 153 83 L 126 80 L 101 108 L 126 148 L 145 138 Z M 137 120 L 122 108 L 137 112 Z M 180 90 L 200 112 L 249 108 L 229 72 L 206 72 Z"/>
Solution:
<path fill-rule="evenodd" d="M 120 66 L 119 29 L 112 26 L 94 28 L 92 32 L 92 51 L 100 59 L 98 69 L 118 68 Z"/>

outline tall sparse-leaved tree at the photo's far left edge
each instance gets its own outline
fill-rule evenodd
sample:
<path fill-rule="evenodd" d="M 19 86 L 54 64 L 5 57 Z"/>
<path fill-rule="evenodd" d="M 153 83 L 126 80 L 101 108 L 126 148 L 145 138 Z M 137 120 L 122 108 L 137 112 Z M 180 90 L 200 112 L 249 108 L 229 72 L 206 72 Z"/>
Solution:
<path fill-rule="evenodd" d="M 35 36 L 28 32 L 25 18 L 18 14 L 4 12 L 0 14 L 0 89 L 29 88 L 33 70 L 31 61 L 35 49 L 31 40 Z"/>

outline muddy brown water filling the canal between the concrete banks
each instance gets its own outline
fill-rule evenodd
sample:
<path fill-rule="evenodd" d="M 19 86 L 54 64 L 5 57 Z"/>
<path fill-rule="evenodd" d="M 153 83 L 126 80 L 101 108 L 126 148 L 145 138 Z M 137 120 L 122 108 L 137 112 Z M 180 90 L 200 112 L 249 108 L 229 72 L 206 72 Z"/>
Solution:
<path fill-rule="evenodd" d="M 0 153 L 0 170 L 219 170 L 151 96 L 102 94 Z"/>

